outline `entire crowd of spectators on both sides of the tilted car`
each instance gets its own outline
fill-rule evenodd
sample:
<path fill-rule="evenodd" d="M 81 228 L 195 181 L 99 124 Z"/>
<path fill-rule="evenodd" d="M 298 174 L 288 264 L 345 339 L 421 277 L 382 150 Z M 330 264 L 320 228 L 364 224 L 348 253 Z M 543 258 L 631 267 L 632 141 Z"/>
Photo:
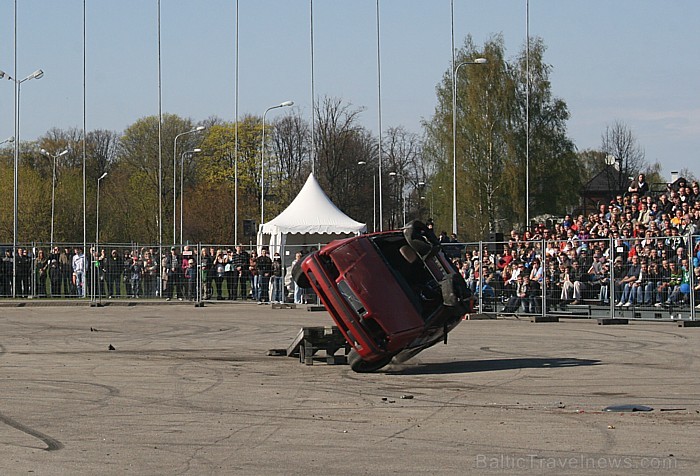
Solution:
<path fill-rule="evenodd" d="M 626 194 L 594 213 L 512 230 L 507 241 L 486 243 L 481 255 L 476 247 L 457 246 L 455 235 L 443 232 L 439 239 L 472 291 L 504 302 L 506 312 L 539 313 L 543 302 L 566 307 L 592 299 L 625 307 L 683 306 L 692 299 L 700 309 L 699 232 L 697 182 L 681 179 L 652 194 L 640 174 Z M 18 248 L 16 254 L 6 248 L 0 296 L 12 296 L 14 285 L 16 297 L 269 303 L 289 296 L 301 302 L 304 290 L 291 281 L 291 266 L 268 253 L 262 249 L 258 256 L 242 245 L 173 247 L 163 256 L 153 247 L 87 254 L 80 247 Z"/>

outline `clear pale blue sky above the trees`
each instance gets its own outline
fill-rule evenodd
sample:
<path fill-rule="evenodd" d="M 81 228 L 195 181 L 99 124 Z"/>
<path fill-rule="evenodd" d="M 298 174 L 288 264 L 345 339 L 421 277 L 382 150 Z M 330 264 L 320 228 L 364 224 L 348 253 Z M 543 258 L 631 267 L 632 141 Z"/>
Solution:
<path fill-rule="evenodd" d="M 18 0 L 22 139 L 83 123 L 83 0 Z M 14 73 L 14 4 L 0 0 L 0 69 Z M 86 0 L 87 128 L 121 132 L 158 113 L 157 1 Z M 163 112 L 233 120 L 235 0 L 161 0 Z M 525 41 L 525 0 L 454 0 L 456 44 L 503 34 L 508 56 Z M 314 0 L 318 96 L 363 107 L 375 130 L 376 0 Z M 449 69 L 450 0 L 380 0 L 382 125 L 420 132 Z M 310 117 L 309 0 L 239 0 L 239 113 L 294 100 Z M 606 125 L 633 131 L 666 177 L 700 177 L 700 2 L 530 0 L 530 34 L 548 47 L 569 136 L 600 146 Z M 279 114 L 273 112 L 271 114 Z M 271 117 L 271 116 L 269 116 Z M 0 82 L 0 140 L 13 134 L 13 93 Z"/>

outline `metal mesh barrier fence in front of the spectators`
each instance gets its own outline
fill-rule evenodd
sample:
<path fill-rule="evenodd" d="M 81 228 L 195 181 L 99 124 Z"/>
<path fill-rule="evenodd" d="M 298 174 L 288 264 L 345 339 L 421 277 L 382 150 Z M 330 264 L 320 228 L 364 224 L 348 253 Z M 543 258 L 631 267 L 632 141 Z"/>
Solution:
<path fill-rule="evenodd" d="M 297 252 L 322 246 L 280 248 L 279 269 L 267 279 L 250 261 L 260 252 L 253 245 L 242 247 L 247 266 L 234 265 L 233 244 L 100 243 L 99 252 L 89 244 L 82 264 L 82 244 L 25 243 L 17 253 L 4 245 L 0 297 L 317 302 L 311 290 L 295 289 L 291 267 Z M 700 235 L 481 241 L 444 249 L 482 313 L 694 320 L 700 304 Z M 177 272 L 168 271 L 173 252 Z"/>

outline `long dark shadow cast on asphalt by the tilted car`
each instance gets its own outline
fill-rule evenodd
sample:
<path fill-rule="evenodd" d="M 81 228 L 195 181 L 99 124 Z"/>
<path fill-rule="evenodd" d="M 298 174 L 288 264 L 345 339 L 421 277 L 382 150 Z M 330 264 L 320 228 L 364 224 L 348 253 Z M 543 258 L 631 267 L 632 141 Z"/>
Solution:
<path fill-rule="evenodd" d="M 387 370 L 388 374 L 424 375 L 424 374 L 458 374 L 471 372 L 492 372 L 496 370 L 543 369 L 560 367 L 580 367 L 599 365 L 600 360 L 572 358 L 517 358 L 466 360 L 436 364 L 405 364 L 395 365 Z"/>

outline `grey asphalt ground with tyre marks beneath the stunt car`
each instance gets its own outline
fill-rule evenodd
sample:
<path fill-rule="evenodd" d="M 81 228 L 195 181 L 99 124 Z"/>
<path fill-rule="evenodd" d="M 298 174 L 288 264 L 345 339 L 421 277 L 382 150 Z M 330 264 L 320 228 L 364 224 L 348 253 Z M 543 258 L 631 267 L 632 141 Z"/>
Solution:
<path fill-rule="evenodd" d="M 464 321 L 374 374 L 326 312 L 0 309 L 0 474 L 699 474 L 700 328 Z M 115 350 L 108 350 L 112 346 Z M 607 412 L 609 405 L 649 412 Z"/>

